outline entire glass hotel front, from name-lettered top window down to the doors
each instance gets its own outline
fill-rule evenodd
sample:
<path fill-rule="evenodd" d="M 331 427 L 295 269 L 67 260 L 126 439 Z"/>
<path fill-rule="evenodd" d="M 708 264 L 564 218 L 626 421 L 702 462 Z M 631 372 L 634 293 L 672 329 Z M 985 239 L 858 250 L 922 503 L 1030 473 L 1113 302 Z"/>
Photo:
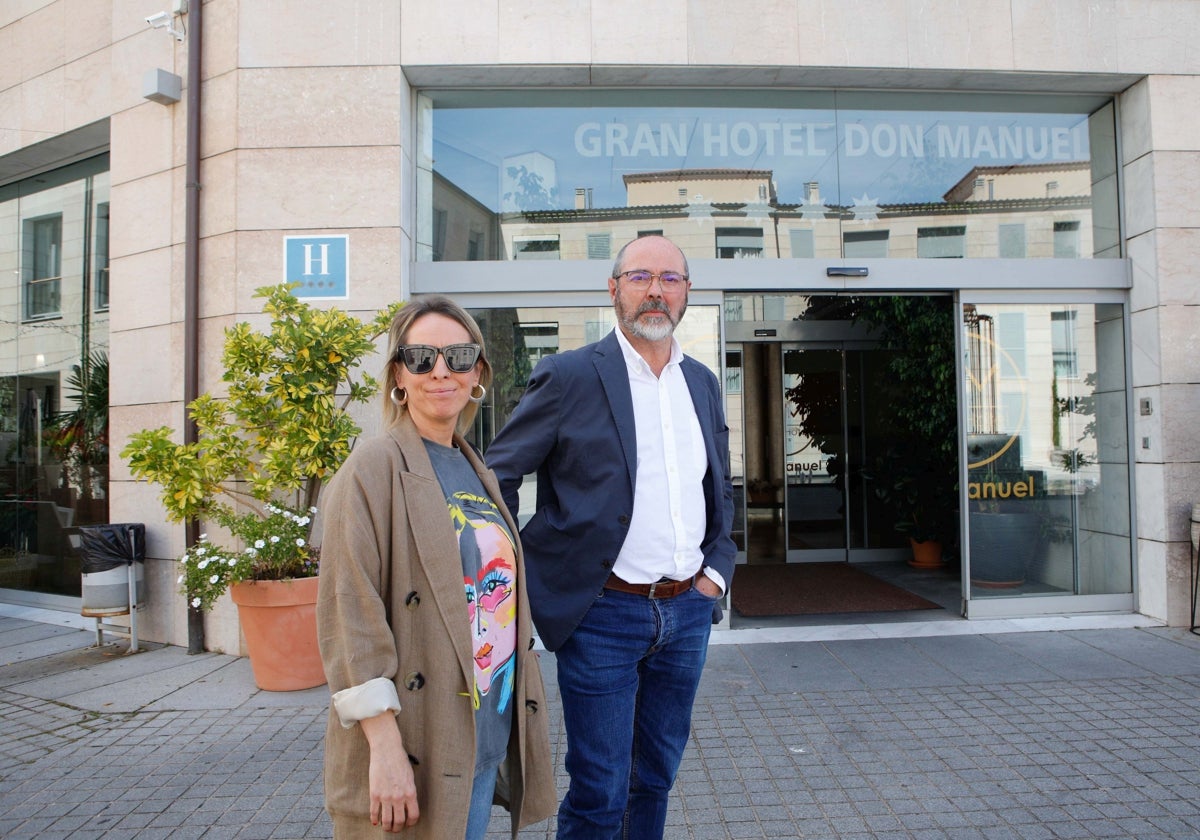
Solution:
<path fill-rule="evenodd" d="M 1062 595 L 1103 599 L 1079 608 L 1133 606 L 1110 100 L 572 90 L 418 101 L 414 289 L 559 298 L 474 310 L 497 372 L 480 444 L 540 358 L 612 329 L 595 294 L 617 250 L 662 234 L 704 260 L 694 275 L 706 305 L 679 337 L 725 385 L 743 562 L 911 557 L 902 467 L 928 499 L 916 530 L 936 511 L 966 614 L 971 604 L 979 616 L 1075 608 Z M 888 258 L 914 268 L 872 265 L 870 281 L 864 270 L 854 282 L 862 293 L 834 294 L 820 264 L 766 262 Z M 521 274 L 486 265 L 530 259 L 601 262 Z M 916 268 L 947 259 L 977 262 Z M 1003 260 L 1044 262 L 1016 271 Z M 1063 278 L 1075 290 L 1046 302 Z M 1022 287 L 1036 290 L 1012 292 Z M 900 292 L 912 306 L 887 302 Z M 564 302 L 576 294 L 588 305 Z M 937 325 L 944 355 L 930 347 L 922 360 L 919 330 L 887 326 L 914 312 Z M 898 367 L 901 334 L 918 349 Z M 922 406 L 935 403 L 931 433 Z M 534 492 L 527 481 L 522 517 Z"/>

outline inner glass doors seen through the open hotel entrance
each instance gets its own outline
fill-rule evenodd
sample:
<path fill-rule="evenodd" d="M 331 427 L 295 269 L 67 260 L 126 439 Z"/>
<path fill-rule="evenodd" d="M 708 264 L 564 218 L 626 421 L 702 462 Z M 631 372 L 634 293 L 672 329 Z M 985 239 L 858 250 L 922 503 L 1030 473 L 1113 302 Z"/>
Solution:
<path fill-rule="evenodd" d="M 748 563 L 892 559 L 899 550 L 870 484 L 890 439 L 871 410 L 883 360 L 860 341 L 727 346 L 734 539 Z"/>

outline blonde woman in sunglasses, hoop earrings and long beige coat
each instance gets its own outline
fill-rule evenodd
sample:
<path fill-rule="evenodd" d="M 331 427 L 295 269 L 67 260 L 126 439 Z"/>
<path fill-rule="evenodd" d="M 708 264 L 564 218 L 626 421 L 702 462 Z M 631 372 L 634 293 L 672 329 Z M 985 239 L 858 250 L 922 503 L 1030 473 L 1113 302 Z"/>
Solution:
<path fill-rule="evenodd" d="M 482 346 L 454 301 L 404 306 L 384 433 L 326 491 L 317 624 L 338 840 L 474 840 L 493 798 L 516 836 L 556 806 L 516 523 L 460 434 L 492 380 Z"/>

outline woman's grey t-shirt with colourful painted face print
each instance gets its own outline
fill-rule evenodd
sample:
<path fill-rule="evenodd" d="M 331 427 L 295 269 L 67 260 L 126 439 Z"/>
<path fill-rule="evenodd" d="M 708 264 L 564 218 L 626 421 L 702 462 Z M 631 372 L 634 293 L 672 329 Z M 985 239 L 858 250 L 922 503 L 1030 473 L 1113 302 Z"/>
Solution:
<path fill-rule="evenodd" d="M 516 548 L 496 503 L 467 457 L 428 440 L 425 449 L 458 535 L 475 659 L 475 768 L 499 764 L 512 727 L 517 643 Z"/>

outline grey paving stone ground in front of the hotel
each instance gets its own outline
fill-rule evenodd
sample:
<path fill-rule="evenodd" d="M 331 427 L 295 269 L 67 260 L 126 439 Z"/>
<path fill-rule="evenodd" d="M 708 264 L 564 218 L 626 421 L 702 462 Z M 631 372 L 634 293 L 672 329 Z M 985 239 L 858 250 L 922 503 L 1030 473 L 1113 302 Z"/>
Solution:
<path fill-rule="evenodd" d="M 1200 838 L 1200 637 L 958 628 L 714 644 L 667 838 Z M 324 688 L 91 641 L 0 616 L 0 836 L 331 836 Z"/>

